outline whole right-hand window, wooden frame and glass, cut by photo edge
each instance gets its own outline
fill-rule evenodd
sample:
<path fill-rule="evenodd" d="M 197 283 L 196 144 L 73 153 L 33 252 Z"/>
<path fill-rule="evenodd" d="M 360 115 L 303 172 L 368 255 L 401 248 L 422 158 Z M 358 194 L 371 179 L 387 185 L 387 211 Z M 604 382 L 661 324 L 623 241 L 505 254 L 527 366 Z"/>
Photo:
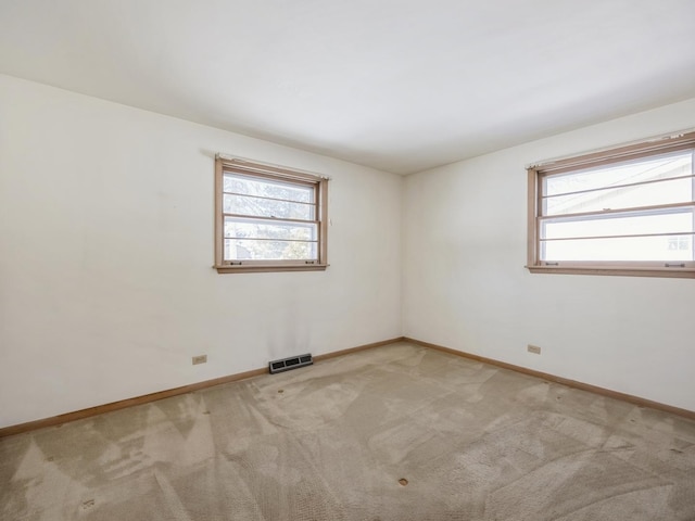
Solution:
<path fill-rule="evenodd" d="M 695 278 L 695 132 L 529 168 L 531 272 Z"/>

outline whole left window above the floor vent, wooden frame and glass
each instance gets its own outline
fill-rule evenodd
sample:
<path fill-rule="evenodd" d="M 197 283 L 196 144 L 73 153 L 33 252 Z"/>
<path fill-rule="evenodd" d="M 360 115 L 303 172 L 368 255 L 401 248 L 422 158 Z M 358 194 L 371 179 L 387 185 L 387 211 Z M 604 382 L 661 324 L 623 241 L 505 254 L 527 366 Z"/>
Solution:
<path fill-rule="evenodd" d="M 327 178 L 218 155 L 215 187 L 218 272 L 326 269 Z"/>

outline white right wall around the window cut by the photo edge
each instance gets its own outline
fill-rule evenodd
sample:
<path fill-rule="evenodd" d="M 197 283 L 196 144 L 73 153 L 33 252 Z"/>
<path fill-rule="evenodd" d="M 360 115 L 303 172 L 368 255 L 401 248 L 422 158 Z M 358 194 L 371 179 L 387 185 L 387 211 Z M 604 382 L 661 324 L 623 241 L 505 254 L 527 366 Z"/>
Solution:
<path fill-rule="evenodd" d="M 693 127 L 695 99 L 407 177 L 404 334 L 695 410 L 695 280 L 523 268 L 525 165 Z"/>

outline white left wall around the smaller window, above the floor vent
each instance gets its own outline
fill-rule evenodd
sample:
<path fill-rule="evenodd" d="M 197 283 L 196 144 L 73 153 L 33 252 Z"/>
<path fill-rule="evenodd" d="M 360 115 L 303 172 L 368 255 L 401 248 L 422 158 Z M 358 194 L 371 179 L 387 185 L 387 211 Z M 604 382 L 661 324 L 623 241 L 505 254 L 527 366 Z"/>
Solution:
<path fill-rule="evenodd" d="M 332 177 L 327 271 L 212 269 L 215 152 Z M 399 336 L 401 202 L 399 176 L 0 76 L 0 427 Z"/>

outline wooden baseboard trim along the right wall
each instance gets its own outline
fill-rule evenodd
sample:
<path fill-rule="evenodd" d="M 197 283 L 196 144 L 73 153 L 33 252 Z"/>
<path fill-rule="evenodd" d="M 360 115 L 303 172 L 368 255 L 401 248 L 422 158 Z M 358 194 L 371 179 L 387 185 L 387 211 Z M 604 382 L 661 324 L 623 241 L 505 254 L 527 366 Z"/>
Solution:
<path fill-rule="evenodd" d="M 466 353 L 463 351 L 452 350 L 451 347 L 444 347 L 443 345 L 422 342 L 421 340 L 415 340 L 415 339 L 404 336 L 403 341 L 410 342 L 416 345 L 421 345 L 424 347 L 429 347 L 431 350 L 441 351 L 443 353 L 448 353 L 451 355 L 460 356 L 471 360 L 482 361 L 484 364 L 490 364 L 491 366 L 501 367 L 503 369 L 509 369 L 511 371 L 521 372 L 523 374 L 529 374 L 531 377 L 540 378 L 542 380 L 547 380 L 548 382 L 561 383 L 563 385 L 567 385 L 568 387 L 589 391 L 590 393 L 599 394 L 608 398 L 621 399 L 623 402 L 628 402 L 630 404 L 634 404 L 640 407 L 649 407 L 652 409 L 662 410 L 665 412 L 670 412 L 672 415 L 682 416 L 690 420 L 695 420 L 695 411 L 693 410 L 682 409 L 680 407 L 673 407 L 672 405 L 661 404 L 659 402 L 652 402 L 650 399 L 641 398 L 640 396 L 633 396 L 632 394 L 620 393 L 618 391 L 611 391 L 610 389 L 599 387 L 597 385 L 592 385 L 590 383 L 583 383 L 583 382 L 578 382 L 576 380 L 570 380 L 568 378 L 556 377 L 555 374 L 549 374 L 547 372 L 535 371 L 533 369 L 528 369 L 526 367 L 515 366 L 514 364 L 507 364 L 506 361 L 500 361 L 493 358 L 485 358 L 484 356 L 479 356 L 479 355 L 473 355 L 471 353 Z"/>

